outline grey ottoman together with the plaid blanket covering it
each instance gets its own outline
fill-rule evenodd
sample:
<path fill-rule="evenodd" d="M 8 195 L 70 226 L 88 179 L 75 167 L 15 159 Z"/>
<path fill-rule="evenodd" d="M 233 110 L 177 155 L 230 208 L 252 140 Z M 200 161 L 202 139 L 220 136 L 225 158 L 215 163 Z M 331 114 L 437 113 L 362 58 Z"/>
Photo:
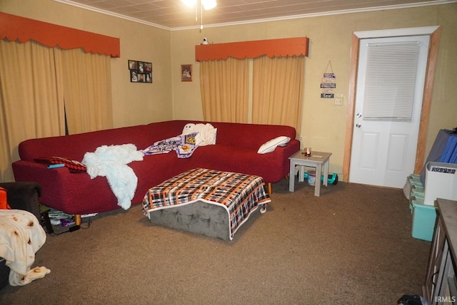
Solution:
<path fill-rule="evenodd" d="M 152 224 L 231 240 L 253 212 L 266 211 L 268 202 L 261 177 L 196 168 L 151 187 L 143 212 Z"/>

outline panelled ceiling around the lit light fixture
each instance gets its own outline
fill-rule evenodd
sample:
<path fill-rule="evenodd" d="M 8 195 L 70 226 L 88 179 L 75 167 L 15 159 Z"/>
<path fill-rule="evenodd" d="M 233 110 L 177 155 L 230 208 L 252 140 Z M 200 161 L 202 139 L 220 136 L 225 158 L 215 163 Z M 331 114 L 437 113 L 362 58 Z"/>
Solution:
<path fill-rule="evenodd" d="M 189 9 L 181 0 L 54 1 L 159 26 L 164 29 L 199 27 L 202 20 L 204 26 L 208 27 L 454 2 L 444 0 L 216 0 L 216 8 L 203 11 L 202 19 L 200 5 L 198 5 L 199 9 L 196 13 L 195 8 Z M 198 15 L 197 21 L 196 15 Z"/>

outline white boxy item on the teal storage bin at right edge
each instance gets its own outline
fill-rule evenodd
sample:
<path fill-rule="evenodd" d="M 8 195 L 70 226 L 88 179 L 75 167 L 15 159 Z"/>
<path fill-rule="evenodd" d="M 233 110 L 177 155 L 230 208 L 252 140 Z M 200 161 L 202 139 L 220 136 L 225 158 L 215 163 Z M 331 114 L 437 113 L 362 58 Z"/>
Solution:
<path fill-rule="evenodd" d="M 436 198 L 457 200 L 457 164 L 428 162 L 424 189 L 425 205 L 434 205 Z"/>

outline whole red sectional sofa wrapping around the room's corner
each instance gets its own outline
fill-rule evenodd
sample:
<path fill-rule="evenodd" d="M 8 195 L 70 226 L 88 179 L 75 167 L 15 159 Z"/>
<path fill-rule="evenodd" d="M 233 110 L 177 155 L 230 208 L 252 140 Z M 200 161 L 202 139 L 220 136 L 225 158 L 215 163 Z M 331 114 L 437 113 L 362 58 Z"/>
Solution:
<path fill-rule="evenodd" d="M 288 157 L 300 149 L 296 130 L 283 125 L 199 122 L 170 120 L 147 125 L 99 130 L 51 138 L 26 140 L 19 144 L 21 160 L 13 163 L 16 182 L 38 182 L 43 192 L 40 202 L 69 214 L 89 214 L 119 209 L 106 177 L 91 179 L 86 172 L 70 172 L 67 167 L 49 169 L 37 162 L 50 157 L 81 161 L 101 145 L 134 144 L 138 150 L 156 141 L 180 135 L 187 123 L 211 123 L 217 128 L 216 145 L 197 148 L 191 157 L 179 159 L 175 152 L 146 155 L 128 164 L 138 177 L 132 204 L 143 200 L 149 188 L 195 167 L 258 175 L 268 183 L 278 182 L 289 172 Z M 258 154 L 263 143 L 278 136 L 291 141 L 272 153 Z"/>

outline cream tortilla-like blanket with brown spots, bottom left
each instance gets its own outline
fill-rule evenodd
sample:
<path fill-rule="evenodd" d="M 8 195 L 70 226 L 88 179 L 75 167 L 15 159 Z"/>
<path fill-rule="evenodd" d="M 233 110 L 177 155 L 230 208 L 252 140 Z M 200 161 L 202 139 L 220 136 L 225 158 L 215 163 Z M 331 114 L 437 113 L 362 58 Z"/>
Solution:
<path fill-rule="evenodd" d="M 6 259 L 11 286 L 24 286 L 51 270 L 35 267 L 35 253 L 46 242 L 46 233 L 34 214 L 23 210 L 0 210 L 0 257 Z"/>

